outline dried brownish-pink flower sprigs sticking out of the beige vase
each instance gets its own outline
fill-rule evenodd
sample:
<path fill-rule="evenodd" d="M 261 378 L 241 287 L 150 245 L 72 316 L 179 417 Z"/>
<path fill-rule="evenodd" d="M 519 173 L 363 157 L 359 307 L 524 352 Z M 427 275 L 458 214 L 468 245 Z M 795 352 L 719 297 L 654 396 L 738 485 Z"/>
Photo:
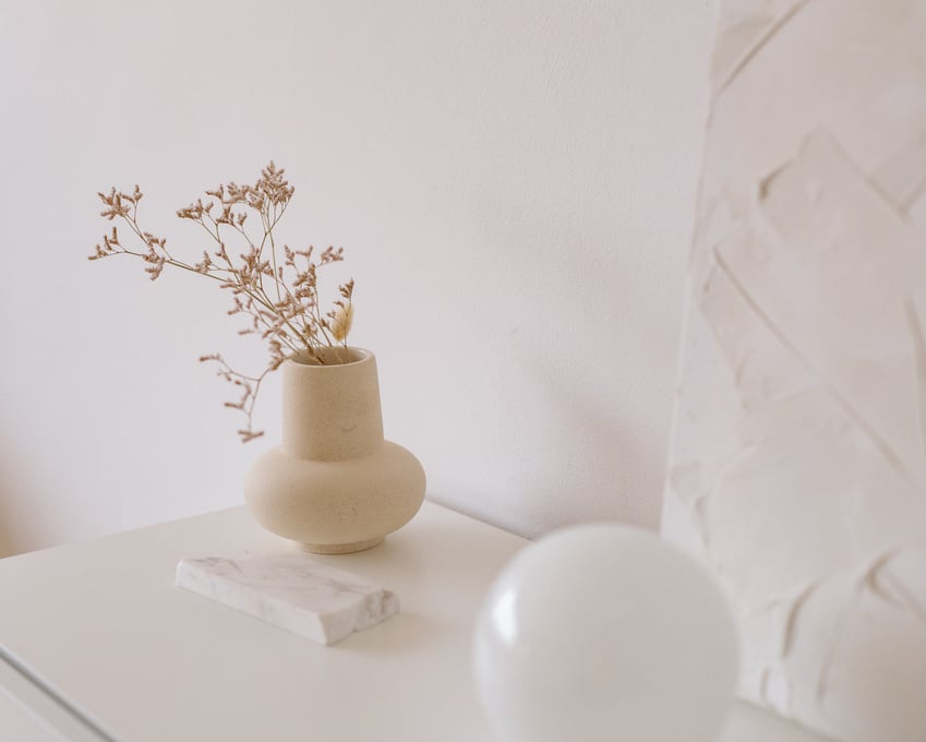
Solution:
<path fill-rule="evenodd" d="M 219 288 L 231 292 L 232 307 L 228 314 L 244 314 L 249 319 L 248 326 L 239 334 L 258 334 L 267 343 L 269 360 L 257 375 L 234 371 L 218 354 L 200 359 L 216 363 L 218 375 L 240 391 L 241 397 L 237 402 L 225 404 L 246 416 L 246 427 L 238 431 L 245 443 L 263 434 L 263 431 L 253 429 L 252 414 L 264 378 L 293 354 L 308 351 L 314 362 L 324 363 L 318 348 L 347 348 L 353 320 L 352 278 L 338 287 L 340 299 L 325 314 L 318 298 L 317 271 L 323 265 L 341 261 L 342 248 L 335 250 L 329 247 L 317 254 L 312 247 L 292 250 L 284 244 L 281 251 L 277 249 L 274 230 L 293 192 L 294 189 L 284 179 L 284 169 L 272 161 L 253 185 L 239 185 L 233 181 L 220 184 L 205 192 L 206 201 L 196 199 L 179 210 L 177 216 L 199 224 L 216 243 L 212 253 L 204 250 L 203 260 L 194 264 L 176 259 L 167 249 L 167 240 L 139 225 L 139 202 L 143 194 L 137 185 L 132 193 L 116 188 L 110 189 L 108 194 L 99 193 L 105 205 L 100 216 L 109 222 L 121 219 L 134 232 L 133 240 L 143 247 L 137 250 L 124 247 L 113 226 L 104 235 L 103 244 L 96 246 L 89 260 L 133 255 L 146 263 L 145 272 L 152 280 L 157 279 L 168 265 L 216 280 Z M 261 237 L 257 240 L 252 239 L 245 228 L 248 217 L 253 214 L 261 218 Z M 226 240 L 229 238 L 245 246 L 245 251 L 237 260 L 228 251 Z"/>

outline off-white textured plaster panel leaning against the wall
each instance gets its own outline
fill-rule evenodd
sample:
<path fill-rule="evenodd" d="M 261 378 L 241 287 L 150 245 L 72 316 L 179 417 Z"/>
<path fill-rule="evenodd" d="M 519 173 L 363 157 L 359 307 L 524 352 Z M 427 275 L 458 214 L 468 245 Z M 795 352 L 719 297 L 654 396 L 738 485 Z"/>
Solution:
<path fill-rule="evenodd" d="M 741 693 L 926 739 L 926 2 L 721 3 L 663 532 Z"/>

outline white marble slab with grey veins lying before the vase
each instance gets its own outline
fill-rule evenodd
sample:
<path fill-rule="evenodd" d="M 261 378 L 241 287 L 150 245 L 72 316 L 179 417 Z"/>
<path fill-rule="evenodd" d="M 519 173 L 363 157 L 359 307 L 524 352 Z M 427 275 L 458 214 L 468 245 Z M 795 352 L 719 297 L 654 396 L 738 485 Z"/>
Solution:
<path fill-rule="evenodd" d="M 177 586 L 324 645 L 399 610 L 395 593 L 301 554 L 184 559 Z"/>

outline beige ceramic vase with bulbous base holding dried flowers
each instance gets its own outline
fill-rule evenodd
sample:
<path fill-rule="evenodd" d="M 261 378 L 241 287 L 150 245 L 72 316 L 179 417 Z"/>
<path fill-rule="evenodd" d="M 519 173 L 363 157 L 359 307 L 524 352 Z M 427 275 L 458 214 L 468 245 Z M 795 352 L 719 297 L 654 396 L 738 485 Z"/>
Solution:
<path fill-rule="evenodd" d="M 267 530 L 313 553 L 344 554 L 376 546 L 414 516 L 424 470 L 383 439 L 373 354 L 322 352 L 325 364 L 308 352 L 284 363 L 282 444 L 254 462 L 244 500 Z"/>

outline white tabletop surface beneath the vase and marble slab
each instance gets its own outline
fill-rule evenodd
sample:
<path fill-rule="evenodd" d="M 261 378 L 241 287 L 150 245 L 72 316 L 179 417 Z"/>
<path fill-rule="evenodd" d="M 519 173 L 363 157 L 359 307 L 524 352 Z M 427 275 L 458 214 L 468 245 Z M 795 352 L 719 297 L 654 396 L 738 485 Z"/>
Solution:
<path fill-rule="evenodd" d="M 486 742 L 471 627 L 526 543 L 425 503 L 381 547 L 313 555 L 401 599 L 333 647 L 173 587 L 183 556 L 293 551 L 243 508 L 0 560 L 0 739 Z M 722 742 L 819 739 L 736 704 Z"/>

